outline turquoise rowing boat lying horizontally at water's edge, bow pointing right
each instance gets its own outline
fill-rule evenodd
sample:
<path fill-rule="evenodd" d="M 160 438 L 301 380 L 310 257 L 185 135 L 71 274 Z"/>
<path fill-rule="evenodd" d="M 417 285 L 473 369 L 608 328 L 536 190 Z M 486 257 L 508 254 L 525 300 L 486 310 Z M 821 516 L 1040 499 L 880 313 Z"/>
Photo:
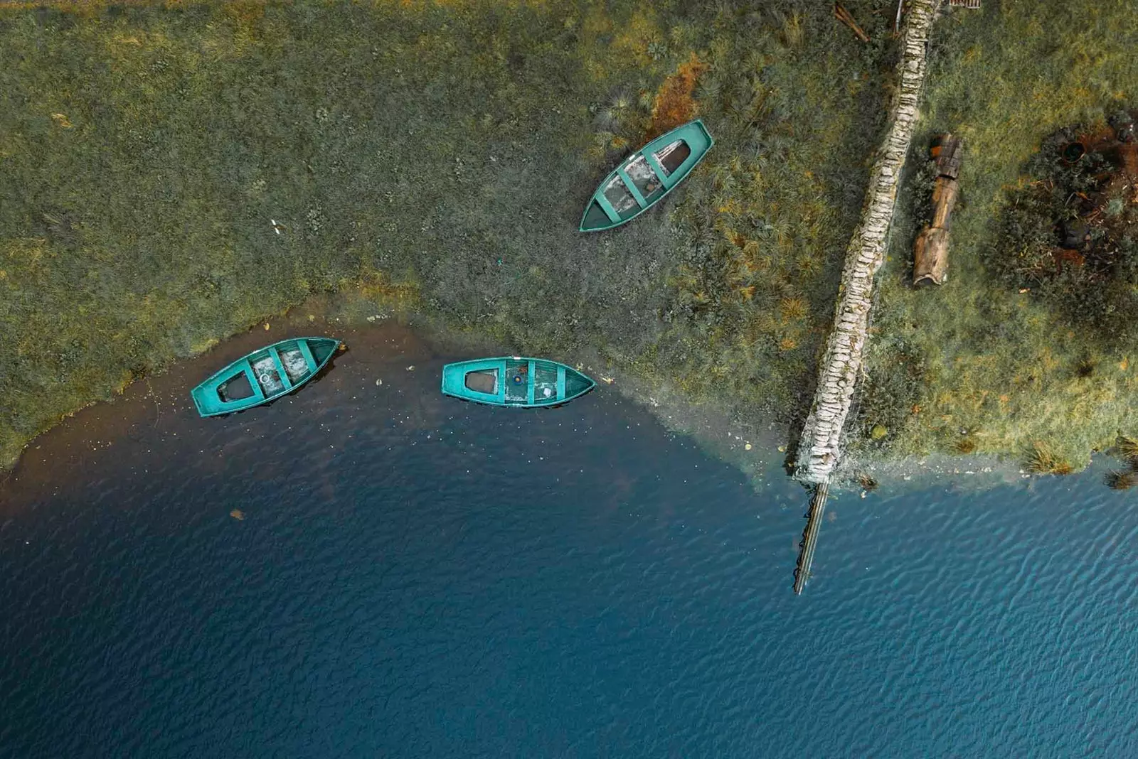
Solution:
<path fill-rule="evenodd" d="M 558 406 L 595 386 L 580 372 L 542 358 L 483 358 L 443 367 L 444 395 L 489 406 L 526 409 Z"/>

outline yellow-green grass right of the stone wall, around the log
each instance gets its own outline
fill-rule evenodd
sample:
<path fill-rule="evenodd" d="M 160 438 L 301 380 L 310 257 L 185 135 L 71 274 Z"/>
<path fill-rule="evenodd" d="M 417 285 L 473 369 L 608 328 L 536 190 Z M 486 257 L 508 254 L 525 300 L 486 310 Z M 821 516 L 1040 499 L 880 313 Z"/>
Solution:
<path fill-rule="evenodd" d="M 1114 264 L 1079 282 L 1007 275 L 1064 220 L 1039 220 L 1050 200 L 1023 210 L 1033 183 L 1058 170 L 1061 130 L 1105 126 L 1138 107 L 1136 47 L 1138 14 L 1122 2 L 986 2 L 938 22 L 858 407 L 863 452 L 999 452 L 1056 472 L 1133 433 L 1138 340 L 1130 315 L 1112 308 L 1133 298 L 1138 281 Z M 966 140 L 949 281 L 913 290 L 912 244 L 929 192 L 921 165 L 948 131 Z M 1111 200 L 1108 214 L 1130 212 Z M 879 424 L 889 436 L 873 442 Z"/>

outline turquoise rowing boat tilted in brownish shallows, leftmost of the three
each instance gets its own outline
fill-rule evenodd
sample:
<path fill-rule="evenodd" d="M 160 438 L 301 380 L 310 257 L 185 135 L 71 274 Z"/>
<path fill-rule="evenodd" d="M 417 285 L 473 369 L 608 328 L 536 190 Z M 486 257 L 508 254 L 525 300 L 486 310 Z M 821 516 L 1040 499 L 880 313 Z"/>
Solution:
<path fill-rule="evenodd" d="M 331 337 L 282 340 L 239 358 L 190 391 L 201 416 L 244 411 L 292 392 L 336 353 Z"/>

